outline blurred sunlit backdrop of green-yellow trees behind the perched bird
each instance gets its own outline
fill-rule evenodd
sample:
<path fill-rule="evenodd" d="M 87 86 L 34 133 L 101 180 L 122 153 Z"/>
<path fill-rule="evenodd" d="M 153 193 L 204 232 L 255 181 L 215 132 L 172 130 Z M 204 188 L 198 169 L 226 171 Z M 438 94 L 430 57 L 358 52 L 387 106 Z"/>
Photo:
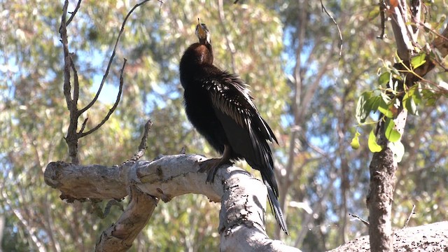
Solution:
<path fill-rule="evenodd" d="M 94 96 L 109 47 L 134 4 L 83 2 L 78 13 L 82 19 L 69 30 L 80 80 L 89 84 L 82 86 L 81 97 Z M 90 214 L 90 204 L 61 202 L 57 191 L 43 183 L 48 162 L 68 157 L 63 137 L 69 122 L 57 34 L 62 5 L 0 1 L 0 6 L 0 215 L 6 217 L 1 248 L 89 250 L 120 210 L 113 208 L 99 219 Z M 446 7 L 426 3 L 426 22 L 435 30 L 444 23 Z M 290 236 L 277 231 L 274 237 L 303 251 L 323 251 L 367 234 L 362 223 L 348 216 L 368 215 L 370 152 L 365 143 L 371 128 L 359 129 L 361 145 L 353 151 L 353 115 L 361 92 L 377 87 L 372 73 L 391 62 L 395 47 L 388 38 L 376 39 L 381 34 L 376 4 L 330 1 L 325 8 L 342 31 L 340 59 L 337 29 L 318 2 L 147 3 L 130 18 L 116 56 L 128 59 L 123 100 L 101 130 L 80 141 L 80 161 L 113 165 L 127 160 L 148 117 L 154 125 L 146 159 L 179 153 L 183 146 L 187 153 L 216 155 L 186 123 L 177 70 L 183 50 L 195 40 L 195 20 L 200 17 L 211 28 L 212 42 L 219 45 L 216 63 L 251 85 L 258 109 L 279 137 L 279 146 L 274 146 L 276 177 Z M 387 28 L 386 34 L 392 31 Z M 434 35 L 427 36 L 429 40 Z M 107 92 L 87 114 L 87 128 L 109 110 L 121 64 L 113 62 Z M 436 69 L 427 78 L 439 83 L 447 73 Z M 408 120 L 408 134 L 402 139 L 406 153 L 394 195 L 394 227 L 403 225 L 412 204 L 417 214 L 409 225 L 447 218 L 442 210 L 447 205 L 446 106 L 444 99 L 433 100 L 433 105 L 419 107 L 419 116 Z M 370 116 L 377 119 L 377 114 Z M 217 204 L 200 195 L 159 204 L 154 216 L 162 218 L 153 219 L 132 249 L 216 250 L 217 211 Z M 272 232 L 276 223 L 272 215 L 267 218 Z"/>

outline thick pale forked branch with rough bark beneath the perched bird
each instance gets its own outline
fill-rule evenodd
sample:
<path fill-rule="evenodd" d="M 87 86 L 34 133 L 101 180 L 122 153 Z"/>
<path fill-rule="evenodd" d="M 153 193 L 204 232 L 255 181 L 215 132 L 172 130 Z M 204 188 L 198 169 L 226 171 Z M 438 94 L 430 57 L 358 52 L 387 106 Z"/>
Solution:
<path fill-rule="evenodd" d="M 130 190 L 132 200 L 117 223 L 104 231 L 96 251 L 126 251 L 144 228 L 157 200 L 169 202 L 187 193 L 206 195 L 221 202 L 221 251 L 300 251 L 267 237 L 265 186 L 238 167 L 219 169 L 214 183 L 198 173 L 199 155 L 172 155 L 118 167 L 51 162 L 45 183 L 62 192 L 62 199 L 121 199 Z"/>

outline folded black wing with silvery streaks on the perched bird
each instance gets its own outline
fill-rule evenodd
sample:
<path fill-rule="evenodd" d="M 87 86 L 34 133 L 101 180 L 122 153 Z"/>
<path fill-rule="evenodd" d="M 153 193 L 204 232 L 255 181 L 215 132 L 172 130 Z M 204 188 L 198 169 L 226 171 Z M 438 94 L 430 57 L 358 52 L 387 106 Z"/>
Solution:
<path fill-rule="evenodd" d="M 260 170 L 263 179 L 278 196 L 272 152 L 267 144 L 267 141 L 276 141 L 276 138 L 258 113 L 246 84 L 237 76 L 225 72 L 204 83 L 232 150 L 253 169 Z"/>

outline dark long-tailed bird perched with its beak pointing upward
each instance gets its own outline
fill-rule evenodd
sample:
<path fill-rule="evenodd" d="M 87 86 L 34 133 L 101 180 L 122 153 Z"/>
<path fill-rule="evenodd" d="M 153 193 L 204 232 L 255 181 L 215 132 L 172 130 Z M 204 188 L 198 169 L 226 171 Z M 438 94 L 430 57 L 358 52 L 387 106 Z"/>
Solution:
<path fill-rule="evenodd" d="M 219 167 L 228 167 L 232 165 L 231 160 L 244 158 L 248 165 L 261 172 L 276 220 L 288 234 L 277 200 L 279 189 L 267 142 L 277 141 L 274 132 L 253 104 L 248 85 L 239 76 L 214 66 L 209 29 L 199 19 L 196 35 L 199 43 L 187 48 L 179 66 L 186 114 L 197 131 L 223 155 L 200 162 L 200 171 L 208 172 L 210 182 Z"/>

